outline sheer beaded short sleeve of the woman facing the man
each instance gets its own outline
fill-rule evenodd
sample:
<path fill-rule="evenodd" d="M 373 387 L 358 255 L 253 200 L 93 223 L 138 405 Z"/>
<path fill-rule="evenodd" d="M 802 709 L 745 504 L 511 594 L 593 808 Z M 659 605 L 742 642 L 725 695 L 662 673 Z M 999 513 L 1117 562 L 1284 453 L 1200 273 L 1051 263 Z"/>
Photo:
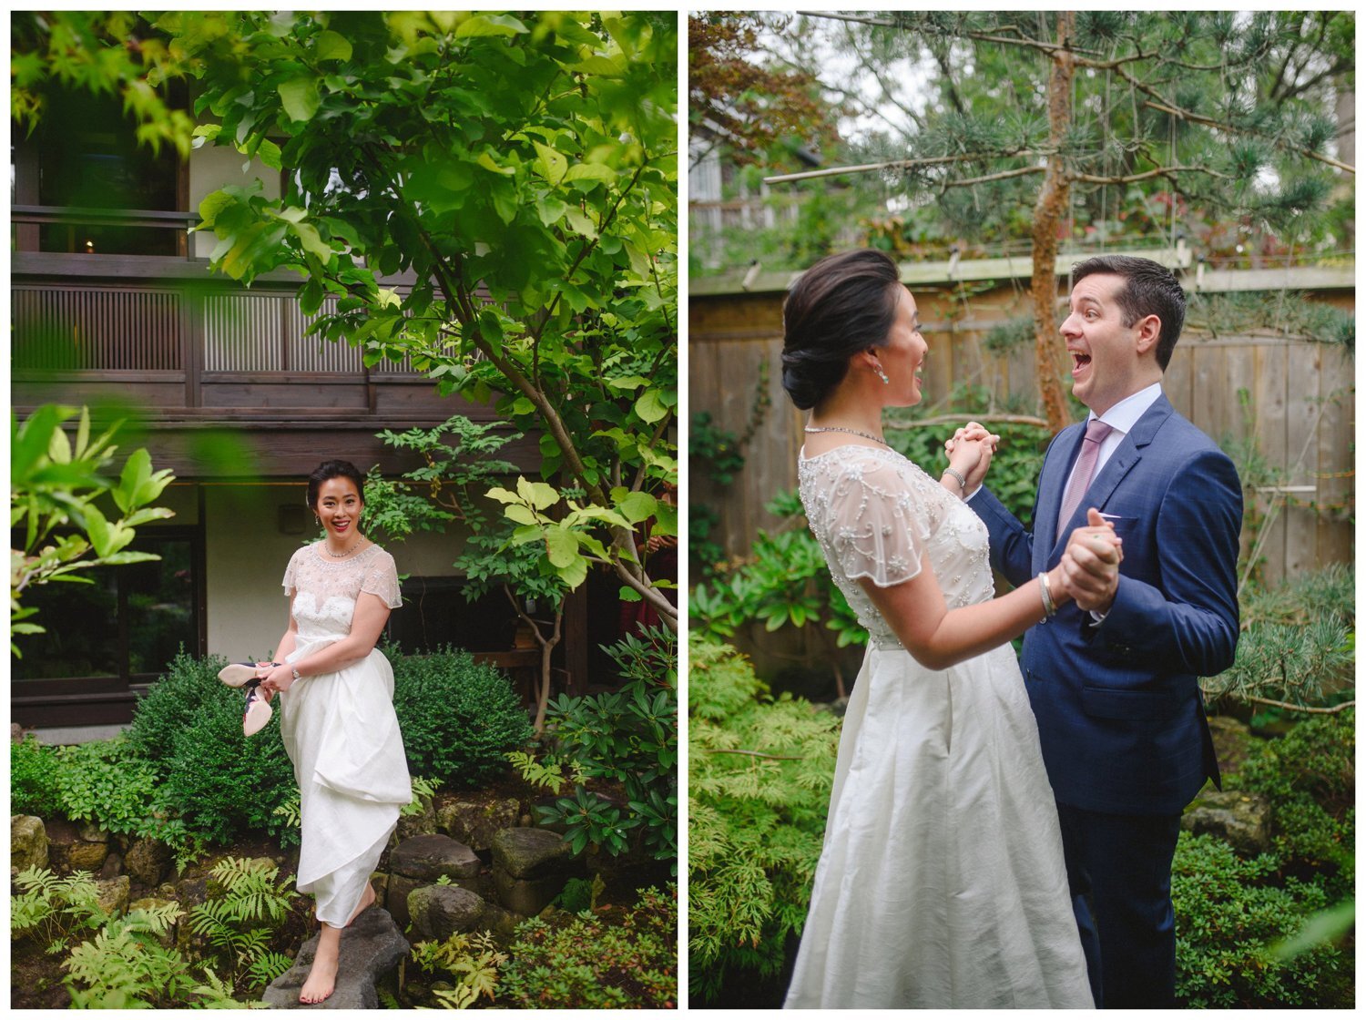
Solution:
<path fill-rule="evenodd" d="M 929 522 L 921 500 L 895 467 L 877 457 L 843 464 L 828 507 L 828 531 L 850 580 L 870 578 L 880 589 L 921 572 Z"/>

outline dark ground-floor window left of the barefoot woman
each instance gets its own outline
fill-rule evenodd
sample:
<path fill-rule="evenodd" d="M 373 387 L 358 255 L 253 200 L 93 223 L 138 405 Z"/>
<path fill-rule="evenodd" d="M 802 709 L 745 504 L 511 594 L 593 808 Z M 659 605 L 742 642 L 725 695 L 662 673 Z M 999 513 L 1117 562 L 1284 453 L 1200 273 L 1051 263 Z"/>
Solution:
<path fill-rule="evenodd" d="M 163 673 L 183 646 L 204 644 L 202 554 L 197 533 L 164 528 L 138 535 L 135 549 L 161 558 L 87 572 L 90 584 L 48 583 L 25 593 L 45 634 L 23 638 L 11 658 L 14 694 L 127 690 Z"/>

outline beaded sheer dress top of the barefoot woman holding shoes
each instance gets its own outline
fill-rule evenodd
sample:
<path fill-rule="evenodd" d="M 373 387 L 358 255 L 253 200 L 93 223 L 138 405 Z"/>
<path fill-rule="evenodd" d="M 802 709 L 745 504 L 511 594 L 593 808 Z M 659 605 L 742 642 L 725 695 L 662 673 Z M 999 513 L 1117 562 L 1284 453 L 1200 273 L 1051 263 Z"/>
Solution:
<path fill-rule="evenodd" d="M 377 545 L 346 560 L 329 560 L 318 545 L 296 549 L 284 571 L 284 594 L 301 638 L 346 635 L 362 591 L 378 595 L 389 609 L 402 605 L 393 557 Z"/>

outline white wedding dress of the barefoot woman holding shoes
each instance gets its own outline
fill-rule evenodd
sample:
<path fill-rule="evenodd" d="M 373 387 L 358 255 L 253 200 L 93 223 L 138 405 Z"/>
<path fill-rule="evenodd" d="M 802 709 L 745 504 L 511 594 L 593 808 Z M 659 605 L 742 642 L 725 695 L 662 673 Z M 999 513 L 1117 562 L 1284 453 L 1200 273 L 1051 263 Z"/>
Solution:
<path fill-rule="evenodd" d="M 335 561 L 316 545 L 296 550 L 284 593 L 294 597 L 298 643 L 285 661 L 346 638 L 362 591 L 391 609 L 400 605 L 393 557 L 380 546 Z M 342 927 L 361 903 L 399 808 L 413 799 L 393 713 L 393 669 L 374 649 L 336 672 L 295 680 L 280 705 L 303 818 L 298 888 L 317 897 L 318 920 Z"/>

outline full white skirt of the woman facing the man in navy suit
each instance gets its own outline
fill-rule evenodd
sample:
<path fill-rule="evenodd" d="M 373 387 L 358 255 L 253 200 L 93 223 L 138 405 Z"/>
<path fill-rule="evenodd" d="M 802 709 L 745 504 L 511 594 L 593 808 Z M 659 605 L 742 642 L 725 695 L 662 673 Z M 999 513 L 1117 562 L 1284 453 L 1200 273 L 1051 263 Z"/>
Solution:
<path fill-rule="evenodd" d="M 869 647 L 788 1008 L 1094 1008 L 1053 792 L 1009 647 Z"/>

